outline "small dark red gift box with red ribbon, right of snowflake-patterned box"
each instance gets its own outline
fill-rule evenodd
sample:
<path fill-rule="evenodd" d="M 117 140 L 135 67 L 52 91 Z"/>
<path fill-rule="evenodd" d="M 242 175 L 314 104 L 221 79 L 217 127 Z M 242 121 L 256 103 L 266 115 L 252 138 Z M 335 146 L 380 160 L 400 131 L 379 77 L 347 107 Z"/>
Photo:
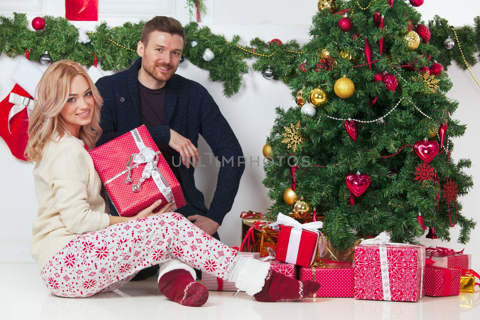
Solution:
<path fill-rule="evenodd" d="M 426 296 L 458 296 L 460 293 L 460 270 L 426 266 L 425 276 Z"/>

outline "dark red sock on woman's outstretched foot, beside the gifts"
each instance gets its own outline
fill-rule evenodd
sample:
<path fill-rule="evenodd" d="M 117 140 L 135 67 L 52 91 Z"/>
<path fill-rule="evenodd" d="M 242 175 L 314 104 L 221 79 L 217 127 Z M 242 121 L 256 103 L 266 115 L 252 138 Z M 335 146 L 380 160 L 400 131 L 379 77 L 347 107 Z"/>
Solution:
<path fill-rule="evenodd" d="M 320 284 L 313 281 L 299 281 L 270 270 L 265 278 L 262 291 L 255 294 L 260 302 L 275 302 L 281 299 L 302 299 L 313 296 L 320 289 Z"/>

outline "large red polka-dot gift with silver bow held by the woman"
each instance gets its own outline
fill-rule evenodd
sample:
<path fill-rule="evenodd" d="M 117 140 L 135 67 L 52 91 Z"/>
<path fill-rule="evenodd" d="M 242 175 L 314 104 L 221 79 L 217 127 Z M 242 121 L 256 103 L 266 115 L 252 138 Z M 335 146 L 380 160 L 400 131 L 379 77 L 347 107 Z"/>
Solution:
<path fill-rule="evenodd" d="M 89 152 L 108 196 L 121 216 L 130 217 L 161 199 L 159 211 L 172 201 L 185 205 L 180 183 L 145 126 L 129 131 Z"/>

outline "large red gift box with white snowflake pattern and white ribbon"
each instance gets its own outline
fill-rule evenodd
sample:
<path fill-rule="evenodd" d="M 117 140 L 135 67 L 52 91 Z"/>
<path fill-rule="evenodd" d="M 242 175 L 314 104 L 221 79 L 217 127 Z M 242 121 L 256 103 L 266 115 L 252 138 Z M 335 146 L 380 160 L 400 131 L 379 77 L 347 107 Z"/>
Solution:
<path fill-rule="evenodd" d="M 425 246 L 390 243 L 382 232 L 355 247 L 356 299 L 417 301 L 423 297 Z"/>

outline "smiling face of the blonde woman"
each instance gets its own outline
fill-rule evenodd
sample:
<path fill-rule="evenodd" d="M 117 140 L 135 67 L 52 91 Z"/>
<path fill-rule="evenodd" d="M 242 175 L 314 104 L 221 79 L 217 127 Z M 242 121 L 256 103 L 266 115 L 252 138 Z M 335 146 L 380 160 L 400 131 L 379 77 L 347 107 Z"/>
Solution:
<path fill-rule="evenodd" d="M 78 138 L 80 127 L 90 124 L 93 112 L 95 100 L 92 90 L 85 77 L 79 74 L 70 83 L 68 100 L 60 111 L 60 116 L 65 120 L 72 135 Z"/>

